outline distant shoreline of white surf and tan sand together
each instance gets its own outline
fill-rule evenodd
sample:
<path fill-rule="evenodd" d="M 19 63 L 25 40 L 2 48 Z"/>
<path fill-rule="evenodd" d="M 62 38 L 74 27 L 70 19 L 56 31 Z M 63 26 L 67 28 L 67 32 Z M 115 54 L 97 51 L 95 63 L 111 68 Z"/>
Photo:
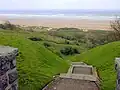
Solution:
<path fill-rule="evenodd" d="M 53 28 L 74 27 L 92 30 L 111 30 L 110 21 L 115 15 L 100 13 L 0 13 L 0 21 L 10 21 L 17 25 L 45 26 Z"/>

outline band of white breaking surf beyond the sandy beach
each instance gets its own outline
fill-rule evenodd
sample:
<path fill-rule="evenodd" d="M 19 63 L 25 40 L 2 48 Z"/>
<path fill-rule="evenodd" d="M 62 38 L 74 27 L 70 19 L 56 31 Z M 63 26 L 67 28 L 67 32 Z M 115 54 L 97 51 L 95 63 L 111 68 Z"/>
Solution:
<path fill-rule="evenodd" d="M 4 14 L 0 13 L 0 16 L 7 17 L 9 19 L 15 18 L 61 18 L 61 19 L 90 19 L 90 20 L 114 20 L 117 15 L 100 15 L 100 14 Z M 119 16 L 119 15 L 118 15 Z"/>

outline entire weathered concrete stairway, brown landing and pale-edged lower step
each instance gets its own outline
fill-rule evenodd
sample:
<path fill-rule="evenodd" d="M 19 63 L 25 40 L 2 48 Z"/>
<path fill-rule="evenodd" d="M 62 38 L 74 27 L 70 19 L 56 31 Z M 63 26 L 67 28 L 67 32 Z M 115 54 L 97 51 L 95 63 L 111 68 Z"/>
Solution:
<path fill-rule="evenodd" d="M 74 68 L 77 70 L 74 70 Z M 96 69 L 81 62 L 71 64 L 67 73 L 60 74 L 43 90 L 100 90 Z"/>

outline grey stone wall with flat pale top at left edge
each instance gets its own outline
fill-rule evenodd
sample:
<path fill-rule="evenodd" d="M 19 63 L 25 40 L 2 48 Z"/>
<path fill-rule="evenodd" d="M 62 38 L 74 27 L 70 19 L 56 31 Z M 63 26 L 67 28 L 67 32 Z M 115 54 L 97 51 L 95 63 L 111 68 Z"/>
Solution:
<path fill-rule="evenodd" d="M 17 55 L 17 48 L 0 46 L 0 90 L 18 90 Z"/>

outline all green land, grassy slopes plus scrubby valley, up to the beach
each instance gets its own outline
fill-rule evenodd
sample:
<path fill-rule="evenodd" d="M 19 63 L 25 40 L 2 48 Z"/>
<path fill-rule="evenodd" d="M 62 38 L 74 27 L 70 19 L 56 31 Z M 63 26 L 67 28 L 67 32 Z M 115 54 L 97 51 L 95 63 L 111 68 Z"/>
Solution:
<path fill-rule="evenodd" d="M 67 71 L 70 60 L 94 65 L 102 79 L 102 89 L 114 89 L 114 58 L 120 55 L 120 42 L 107 44 L 111 32 L 84 32 L 76 28 L 40 32 L 8 29 L 0 30 L 0 44 L 19 49 L 19 90 L 40 90 L 54 75 Z"/>

